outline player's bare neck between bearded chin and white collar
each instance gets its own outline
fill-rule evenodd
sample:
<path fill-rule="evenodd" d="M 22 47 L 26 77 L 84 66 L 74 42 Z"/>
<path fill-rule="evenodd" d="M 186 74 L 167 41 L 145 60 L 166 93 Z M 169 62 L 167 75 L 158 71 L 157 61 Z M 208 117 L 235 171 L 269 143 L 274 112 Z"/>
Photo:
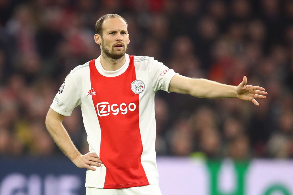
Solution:
<path fill-rule="evenodd" d="M 109 58 L 105 54 L 102 54 L 100 57 L 100 63 L 102 65 L 102 67 L 107 71 L 118 70 L 119 68 L 121 68 L 123 66 L 125 61 L 126 61 L 125 55 L 117 60 L 113 59 L 113 58 Z"/>

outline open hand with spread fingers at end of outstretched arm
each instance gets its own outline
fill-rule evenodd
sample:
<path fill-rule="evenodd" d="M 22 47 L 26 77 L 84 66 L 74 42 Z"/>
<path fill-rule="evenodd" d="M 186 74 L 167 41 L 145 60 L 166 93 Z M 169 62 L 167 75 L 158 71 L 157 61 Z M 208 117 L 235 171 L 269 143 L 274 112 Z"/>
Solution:
<path fill-rule="evenodd" d="M 237 97 L 245 101 L 251 101 L 256 106 L 259 106 L 259 103 L 255 98 L 265 99 L 267 98 L 267 92 L 265 88 L 253 85 L 246 85 L 247 78 L 243 77 L 243 81 L 236 87 Z"/>

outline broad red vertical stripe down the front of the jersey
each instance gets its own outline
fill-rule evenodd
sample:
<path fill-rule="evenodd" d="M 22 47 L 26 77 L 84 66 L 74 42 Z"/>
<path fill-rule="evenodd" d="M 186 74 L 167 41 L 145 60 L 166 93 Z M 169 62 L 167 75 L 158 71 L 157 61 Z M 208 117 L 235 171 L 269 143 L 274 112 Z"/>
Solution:
<path fill-rule="evenodd" d="M 131 90 L 136 80 L 134 57 L 117 77 L 101 75 L 90 61 L 92 96 L 101 127 L 100 159 L 107 168 L 104 188 L 117 189 L 149 185 L 141 164 L 139 95 Z M 135 108 L 135 109 L 134 109 Z"/>

